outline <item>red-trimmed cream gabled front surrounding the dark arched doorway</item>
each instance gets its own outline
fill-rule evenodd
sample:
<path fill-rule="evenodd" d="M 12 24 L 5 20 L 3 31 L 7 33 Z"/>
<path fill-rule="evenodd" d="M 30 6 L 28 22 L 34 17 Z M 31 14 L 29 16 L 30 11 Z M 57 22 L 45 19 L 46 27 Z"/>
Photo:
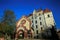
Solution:
<path fill-rule="evenodd" d="M 28 17 L 23 16 L 16 25 L 16 38 L 23 33 L 24 38 L 28 38 L 28 31 L 31 30 L 31 21 L 28 19 Z M 30 31 L 30 34 L 32 35 L 32 31 Z"/>

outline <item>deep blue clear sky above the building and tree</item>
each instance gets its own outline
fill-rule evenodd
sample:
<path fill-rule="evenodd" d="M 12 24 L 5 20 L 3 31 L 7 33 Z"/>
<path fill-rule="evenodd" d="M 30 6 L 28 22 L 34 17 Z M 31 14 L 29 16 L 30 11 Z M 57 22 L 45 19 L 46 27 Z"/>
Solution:
<path fill-rule="evenodd" d="M 14 11 L 17 20 L 29 15 L 34 9 L 48 8 L 53 12 L 56 26 L 60 28 L 60 0 L 0 0 L 0 18 L 4 10 Z"/>

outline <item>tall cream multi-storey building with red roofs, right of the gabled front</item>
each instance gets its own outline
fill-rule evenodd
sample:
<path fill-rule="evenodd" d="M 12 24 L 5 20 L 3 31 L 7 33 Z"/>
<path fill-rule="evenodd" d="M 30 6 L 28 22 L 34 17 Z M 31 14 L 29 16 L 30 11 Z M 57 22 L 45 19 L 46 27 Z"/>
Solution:
<path fill-rule="evenodd" d="M 31 21 L 31 27 L 34 29 L 34 35 L 38 35 L 42 30 L 55 26 L 52 11 L 45 10 L 34 10 L 28 17 Z"/>

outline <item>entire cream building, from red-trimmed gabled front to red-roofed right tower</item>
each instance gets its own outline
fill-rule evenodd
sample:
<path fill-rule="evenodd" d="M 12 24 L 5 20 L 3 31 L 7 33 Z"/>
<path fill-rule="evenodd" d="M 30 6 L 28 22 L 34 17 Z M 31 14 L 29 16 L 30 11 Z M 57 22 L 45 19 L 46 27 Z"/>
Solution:
<path fill-rule="evenodd" d="M 34 10 L 32 14 L 29 16 L 23 16 L 16 24 L 16 31 L 18 35 L 21 34 L 21 30 L 25 36 L 28 36 L 28 31 L 31 30 L 31 27 L 34 29 L 32 33 L 33 37 L 37 36 L 39 33 L 44 31 L 45 29 L 52 28 L 52 26 L 55 26 L 55 21 L 53 18 L 52 11 L 45 9 L 45 10 Z M 25 30 L 27 29 L 27 30 Z M 26 31 L 26 32 L 25 32 Z M 26 34 L 25 34 L 26 33 Z M 30 33 L 30 34 L 31 34 Z M 19 36 L 18 35 L 18 36 Z"/>

